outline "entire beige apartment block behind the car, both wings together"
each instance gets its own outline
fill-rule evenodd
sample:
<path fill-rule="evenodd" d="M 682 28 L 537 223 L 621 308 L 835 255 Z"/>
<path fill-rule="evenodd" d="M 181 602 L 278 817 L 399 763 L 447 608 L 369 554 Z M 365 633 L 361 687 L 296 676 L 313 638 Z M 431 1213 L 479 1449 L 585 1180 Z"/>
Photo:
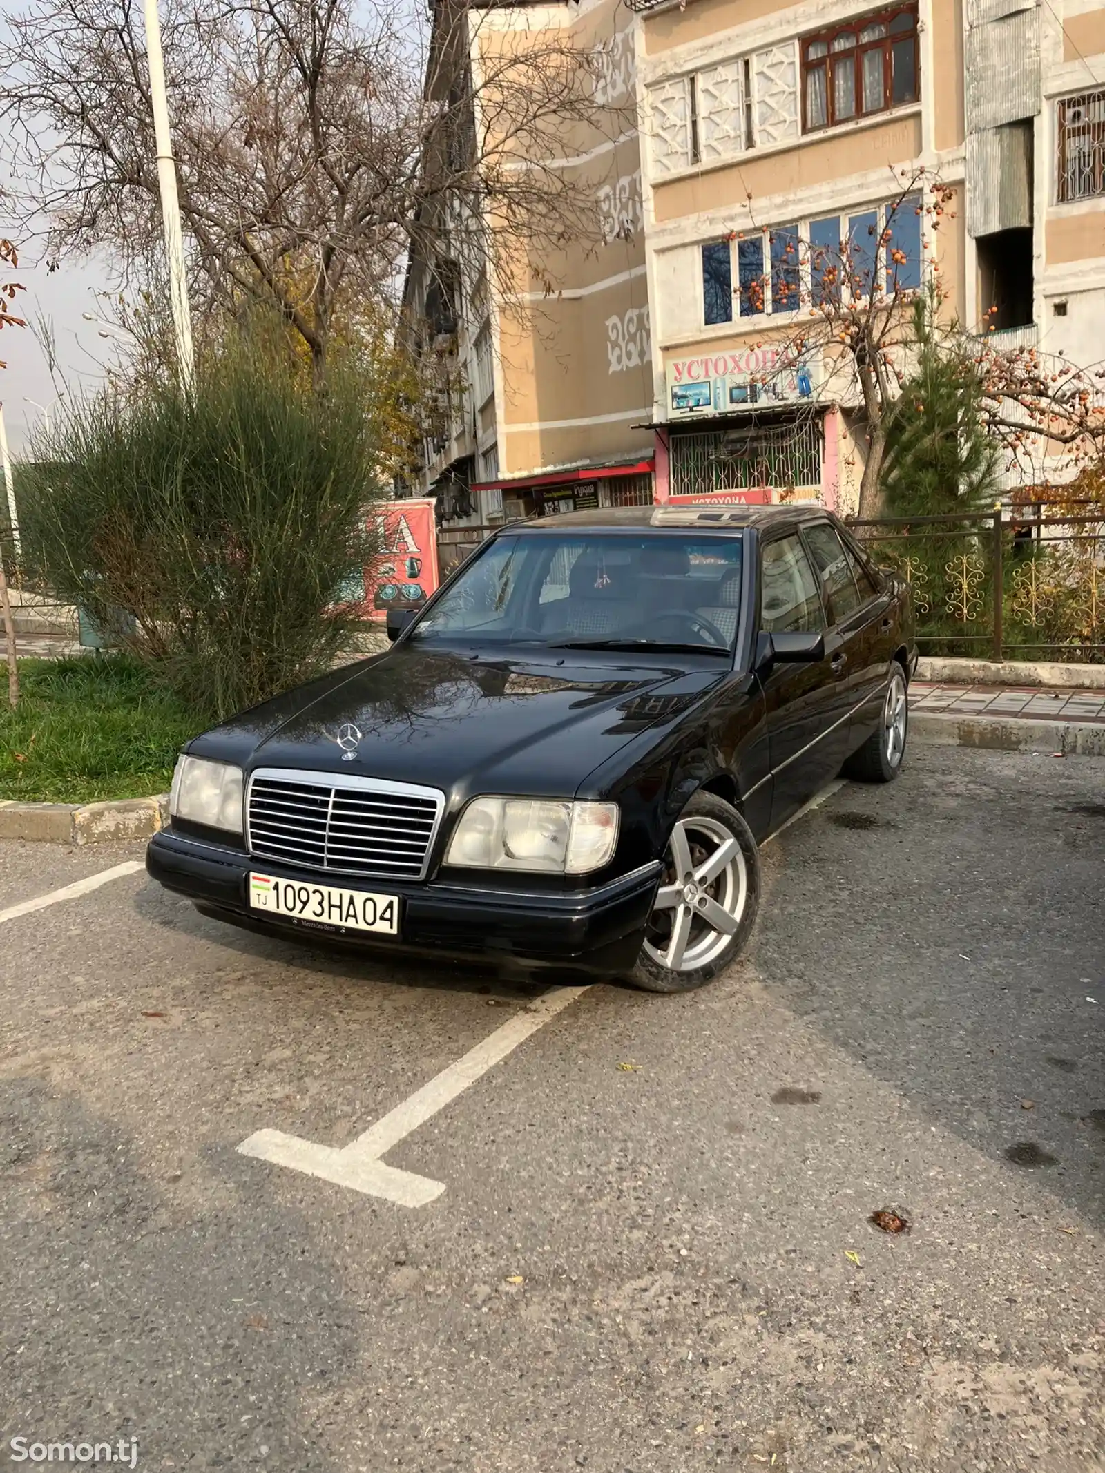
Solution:
<path fill-rule="evenodd" d="M 597 59 L 608 116 L 548 159 L 594 199 L 597 243 L 520 258 L 498 296 L 413 258 L 408 318 L 455 368 L 418 489 L 454 521 L 653 495 L 855 511 L 856 384 L 788 351 L 841 242 L 877 289 L 936 274 L 994 346 L 1105 358 L 1105 0 L 473 15 L 476 72 L 497 38 L 558 32 Z"/>

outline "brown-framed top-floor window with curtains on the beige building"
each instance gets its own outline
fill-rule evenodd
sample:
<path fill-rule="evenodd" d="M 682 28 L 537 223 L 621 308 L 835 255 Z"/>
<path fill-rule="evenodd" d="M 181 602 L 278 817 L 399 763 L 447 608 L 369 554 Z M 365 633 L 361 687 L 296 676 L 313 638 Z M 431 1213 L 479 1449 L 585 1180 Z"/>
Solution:
<path fill-rule="evenodd" d="M 865 16 L 801 41 L 803 130 L 916 102 L 916 6 Z"/>

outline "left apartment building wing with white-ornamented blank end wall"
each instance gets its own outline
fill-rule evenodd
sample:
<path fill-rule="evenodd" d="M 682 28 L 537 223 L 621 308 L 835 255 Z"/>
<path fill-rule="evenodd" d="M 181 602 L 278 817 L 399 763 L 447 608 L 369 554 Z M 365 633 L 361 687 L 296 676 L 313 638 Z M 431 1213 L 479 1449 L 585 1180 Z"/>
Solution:
<path fill-rule="evenodd" d="M 583 200 L 589 221 L 564 242 L 498 242 L 494 267 L 451 252 L 448 227 L 433 233 L 433 250 L 413 253 L 407 330 L 423 358 L 436 359 L 441 387 L 411 489 L 438 495 L 454 526 L 651 502 L 634 16 L 619 0 L 552 0 L 476 7 L 464 25 L 477 136 L 494 127 L 480 115 L 480 78 L 502 68 L 504 53 L 558 38 L 589 57 L 594 115 L 566 118 L 541 161 Z M 471 225 L 455 224 L 455 233 Z M 505 270 L 504 250 L 513 252 Z"/>

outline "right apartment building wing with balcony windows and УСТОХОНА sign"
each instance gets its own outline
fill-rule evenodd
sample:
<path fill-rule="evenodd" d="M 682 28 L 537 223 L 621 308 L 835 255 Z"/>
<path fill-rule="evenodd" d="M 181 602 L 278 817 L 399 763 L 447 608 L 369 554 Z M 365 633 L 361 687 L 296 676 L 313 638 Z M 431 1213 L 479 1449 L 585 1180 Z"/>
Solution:
<path fill-rule="evenodd" d="M 628 3 L 657 499 L 856 510 L 855 386 L 779 356 L 840 242 L 992 345 L 1105 356 L 1101 0 Z"/>

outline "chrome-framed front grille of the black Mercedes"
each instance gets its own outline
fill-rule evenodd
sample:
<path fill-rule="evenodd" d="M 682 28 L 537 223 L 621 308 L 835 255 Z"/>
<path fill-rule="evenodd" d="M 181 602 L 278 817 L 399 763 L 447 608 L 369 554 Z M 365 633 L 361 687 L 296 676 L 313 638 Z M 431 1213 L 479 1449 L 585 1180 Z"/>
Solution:
<path fill-rule="evenodd" d="M 250 854 L 336 875 L 423 879 L 445 794 L 407 782 L 259 767 L 249 779 Z"/>

